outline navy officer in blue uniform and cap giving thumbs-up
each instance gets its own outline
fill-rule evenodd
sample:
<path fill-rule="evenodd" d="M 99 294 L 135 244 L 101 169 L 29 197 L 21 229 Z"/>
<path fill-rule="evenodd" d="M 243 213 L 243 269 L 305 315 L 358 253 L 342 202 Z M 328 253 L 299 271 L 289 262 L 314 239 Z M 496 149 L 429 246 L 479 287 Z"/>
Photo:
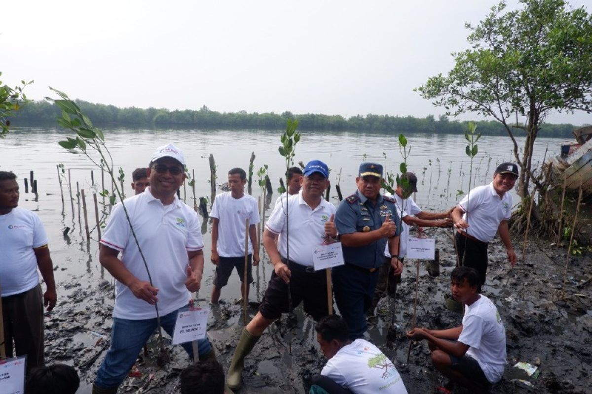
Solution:
<path fill-rule="evenodd" d="M 363 162 L 356 177 L 358 190 L 335 214 L 345 265 L 332 270 L 333 290 L 352 340 L 363 337 L 368 328 L 365 312 L 372 306 L 387 242 L 395 275 L 403 271 L 398 259 L 400 219 L 394 198 L 380 194 L 381 181 L 382 165 Z"/>

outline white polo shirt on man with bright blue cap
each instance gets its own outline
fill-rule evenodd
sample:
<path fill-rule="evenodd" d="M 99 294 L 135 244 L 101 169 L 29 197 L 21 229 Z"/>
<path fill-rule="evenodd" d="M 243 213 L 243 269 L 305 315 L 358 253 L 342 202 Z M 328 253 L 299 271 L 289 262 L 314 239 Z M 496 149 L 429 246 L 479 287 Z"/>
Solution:
<path fill-rule="evenodd" d="M 279 235 L 278 252 L 287 258 L 286 211 L 289 217 L 289 259 L 305 266 L 313 266 L 313 252 L 317 246 L 323 245 L 325 222 L 337 210 L 336 207 L 321 199 L 321 203 L 313 210 L 304 201 L 302 191 L 288 198 L 288 206 L 278 204 L 265 223 L 265 228 Z"/>

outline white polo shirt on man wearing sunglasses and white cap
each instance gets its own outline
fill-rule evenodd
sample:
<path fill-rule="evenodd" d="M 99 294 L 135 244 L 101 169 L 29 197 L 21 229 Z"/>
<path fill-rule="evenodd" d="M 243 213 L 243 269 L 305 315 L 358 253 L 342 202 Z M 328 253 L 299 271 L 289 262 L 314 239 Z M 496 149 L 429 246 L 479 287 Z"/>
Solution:
<path fill-rule="evenodd" d="M 161 316 L 187 304 L 191 294 L 185 287 L 187 279 L 188 250 L 201 250 L 200 219 L 194 210 L 176 196 L 172 204 L 163 205 L 153 197 L 150 188 L 124 201 L 136 232 L 140 248 L 150 269 L 153 285 L 159 289 L 159 313 Z M 140 281 L 148 281 L 146 267 L 131 234 L 121 203 L 115 205 L 101 243 L 119 250 L 121 261 Z M 130 288 L 115 284 L 115 308 L 113 316 L 128 320 L 144 320 L 156 317 L 154 305 L 136 298 Z"/>

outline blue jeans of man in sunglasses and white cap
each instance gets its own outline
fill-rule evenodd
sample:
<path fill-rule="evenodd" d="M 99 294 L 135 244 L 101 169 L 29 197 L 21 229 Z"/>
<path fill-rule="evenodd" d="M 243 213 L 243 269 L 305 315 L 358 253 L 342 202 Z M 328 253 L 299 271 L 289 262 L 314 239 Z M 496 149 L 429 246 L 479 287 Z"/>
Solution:
<path fill-rule="evenodd" d="M 186 311 L 188 307 L 179 308 L 168 315 L 160 317 L 160 325 L 171 337 L 175 330 L 175 321 L 179 311 Z M 100 388 L 115 388 L 121 385 L 136 362 L 138 354 L 152 333 L 156 330 L 156 318 L 146 320 L 127 320 L 114 317 L 111 333 L 111 347 L 96 373 L 95 385 Z M 206 336 L 198 341 L 200 354 L 211 350 L 210 341 Z M 181 346 L 193 357 L 191 342 Z"/>

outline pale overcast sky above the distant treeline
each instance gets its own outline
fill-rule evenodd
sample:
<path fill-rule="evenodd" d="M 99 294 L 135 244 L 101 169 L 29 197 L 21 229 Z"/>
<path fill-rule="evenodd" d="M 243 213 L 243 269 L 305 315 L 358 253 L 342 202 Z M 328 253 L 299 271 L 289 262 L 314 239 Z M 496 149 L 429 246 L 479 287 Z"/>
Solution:
<path fill-rule="evenodd" d="M 120 107 L 437 116 L 444 110 L 413 89 L 451 69 L 451 53 L 467 47 L 464 22 L 477 24 L 493 4 L 3 1 L 0 79 L 34 79 L 34 99 L 52 86 Z"/>

